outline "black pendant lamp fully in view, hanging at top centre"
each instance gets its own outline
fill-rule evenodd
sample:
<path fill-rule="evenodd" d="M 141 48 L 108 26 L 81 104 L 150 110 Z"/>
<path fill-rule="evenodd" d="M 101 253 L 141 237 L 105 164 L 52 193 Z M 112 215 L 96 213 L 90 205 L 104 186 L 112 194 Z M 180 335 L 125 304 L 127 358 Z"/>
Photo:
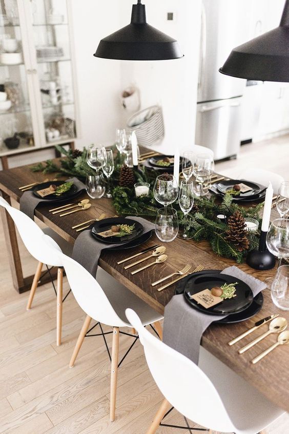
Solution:
<path fill-rule="evenodd" d="M 150 26 L 146 6 L 137 1 L 131 23 L 102 39 L 95 57 L 116 60 L 156 61 L 183 57 L 175 39 Z"/>

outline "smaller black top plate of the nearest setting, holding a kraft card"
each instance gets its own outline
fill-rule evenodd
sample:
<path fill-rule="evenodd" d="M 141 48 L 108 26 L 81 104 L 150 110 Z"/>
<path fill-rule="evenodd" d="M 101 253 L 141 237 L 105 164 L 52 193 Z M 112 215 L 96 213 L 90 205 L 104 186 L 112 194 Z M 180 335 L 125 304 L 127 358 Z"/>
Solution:
<path fill-rule="evenodd" d="M 236 285 L 236 297 L 226 299 L 209 309 L 205 309 L 195 300 L 190 298 L 191 295 L 196 294 L 203 289 L 211 289 L 214 286 L 222 286 L 225 283 L 235 282 L 238 282 L 238 285 Z M 185 299 L 189 304 L 191 304 L 191 306 L 209 315 L 229 315 L 231 313 L 241 312 L 249 307 L 254 299 L 250 286 L 245 282 L 228 274 L 221 273 L 207 273 L 199 276 L 192 274 L 191 279 L 189 279 L 185 284 L 183 293 Z"/>

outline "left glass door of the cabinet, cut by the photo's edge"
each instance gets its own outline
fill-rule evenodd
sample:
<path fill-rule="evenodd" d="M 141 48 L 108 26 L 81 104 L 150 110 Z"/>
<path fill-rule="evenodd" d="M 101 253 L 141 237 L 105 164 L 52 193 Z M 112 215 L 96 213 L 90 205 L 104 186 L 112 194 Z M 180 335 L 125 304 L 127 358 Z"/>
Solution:
<path fill-rule="evenodd" d="M 0 0 L 0 155 L 34 146 L 16 0 Z"/>

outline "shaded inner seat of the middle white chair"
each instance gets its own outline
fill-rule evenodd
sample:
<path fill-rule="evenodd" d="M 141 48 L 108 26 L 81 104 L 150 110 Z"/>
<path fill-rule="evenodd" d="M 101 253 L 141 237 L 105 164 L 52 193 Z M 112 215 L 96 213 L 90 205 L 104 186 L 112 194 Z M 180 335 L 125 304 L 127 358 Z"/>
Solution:
<path fill-rule="evenodd" d="M 153 310 L 147 303 L 143 302 L 133 292 L 117 282 L 109 273 L 100 267 L 97 269 L 96 280 L 105 292 L 113 309 L 123 322 L 128 324 L 125 313 L 128 307 L 137 312 L 143 325 L 162 320 L 162 315 Z"/>

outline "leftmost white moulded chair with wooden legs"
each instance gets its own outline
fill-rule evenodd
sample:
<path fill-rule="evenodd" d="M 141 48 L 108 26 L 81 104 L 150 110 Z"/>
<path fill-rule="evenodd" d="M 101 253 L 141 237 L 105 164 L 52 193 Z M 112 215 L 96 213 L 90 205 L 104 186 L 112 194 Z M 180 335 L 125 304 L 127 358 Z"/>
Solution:
<path fill-rule="evenodd" d="M 0 196 L 0 205 L 2 205 L 6 211 L 10 214 L 14 221 L 16 228 L 18 229 L 19 235 L 29 251 L 29 253 L 38 261 L 37 269 L 34 274 L 34 279 L 30 289 L 29 300 L 27 303 L 27 310 L 31 308 L 31 304 L 34 298 L 35 291 L 37 289 L 37 283 L 40 279 L 42 273 L 43 264 L 47 266 L 57 267 L 57 315 L 56 315 L 56 343 L 61 345 L 61 327 L 62 327 L 62 304 L 63 304 L 63 268 L 59 261 L 59 258 L 51 253 L 51 249 L 48 249 L 46 245 L 43 244 L 43 235 L 47 233 L 51 236 L 52 242 L 54 243 L 55 249 L 61 251 L 61 248 L 67 254 L 70 254 L 72 247 L 61 239 L 50 228 L 44 230 L 40 229 L 37 224 L 31 220 L 24 212 L 13 208 L 5 199 Z M 62 241 L 61 241 L 62 240 Z M 61 242 L 61 248 L 57 243 Z M 53 282 L 53 281 L 52 281 Z"/>

